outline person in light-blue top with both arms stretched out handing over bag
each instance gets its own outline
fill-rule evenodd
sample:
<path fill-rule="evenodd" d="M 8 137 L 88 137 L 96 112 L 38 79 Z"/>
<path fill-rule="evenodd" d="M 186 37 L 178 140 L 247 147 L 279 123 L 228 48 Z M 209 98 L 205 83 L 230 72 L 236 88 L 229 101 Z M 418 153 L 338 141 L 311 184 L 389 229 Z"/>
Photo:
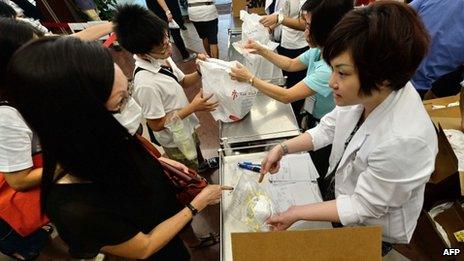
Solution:
<path fill-rule="evenodd" d="M 296 58 L 276 54 L 252 40 L 245 45 L 246 49 L 263 56 L 284 71 L 297 72 L 306 69 L 306 77 L 295 85 L 288 86 L 287 89 L 281 88 L 255 77 L 246 67 L 240 65 L 232 68 L 232 79 L 249 82 L 264 94 L 283 103 L 314 95 L 314 121 L 310 125 L 315 125 L 335 107 L 329 87 L 331 69 L 322 59 L 321 50 L 332 28 L 351 9 L 352 0 L 307 0 L 301 10 L 306 21 L 306 41 L 311 48 Z"/>

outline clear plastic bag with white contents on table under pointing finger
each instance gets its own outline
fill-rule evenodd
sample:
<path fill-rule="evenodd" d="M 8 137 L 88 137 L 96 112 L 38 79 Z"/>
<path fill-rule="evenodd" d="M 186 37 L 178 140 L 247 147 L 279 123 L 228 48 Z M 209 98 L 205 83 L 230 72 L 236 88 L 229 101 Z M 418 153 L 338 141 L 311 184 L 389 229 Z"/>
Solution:
<path fill-rule="evenodd" d="M 250 231 L 269 231 L 266 220 L 276 213 L 275 202 L 258 183 L 259 174 L 239 168 L 237 173 L 241 176 L 234 187 L 230 209 L 226 214 L 230 214 Z"/>

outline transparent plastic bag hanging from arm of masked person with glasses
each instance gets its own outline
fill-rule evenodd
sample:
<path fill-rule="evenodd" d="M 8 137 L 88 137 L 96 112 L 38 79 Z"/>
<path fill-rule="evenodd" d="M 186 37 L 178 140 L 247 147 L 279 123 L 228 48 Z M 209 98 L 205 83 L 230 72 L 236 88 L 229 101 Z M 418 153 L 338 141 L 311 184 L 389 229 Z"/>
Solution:
<path fill-rule="evenodd" d="M 172 133 L 172 138 L 174 143 L 177 145 L 177 148 L 179 148 L 188 160 L 196 159 L 197 150 L 192 132 L 186 128 L 184 121 L 176 112 L 171 115 L 167 115 L 166 117 L 167 119 L 164 127 Z"/>

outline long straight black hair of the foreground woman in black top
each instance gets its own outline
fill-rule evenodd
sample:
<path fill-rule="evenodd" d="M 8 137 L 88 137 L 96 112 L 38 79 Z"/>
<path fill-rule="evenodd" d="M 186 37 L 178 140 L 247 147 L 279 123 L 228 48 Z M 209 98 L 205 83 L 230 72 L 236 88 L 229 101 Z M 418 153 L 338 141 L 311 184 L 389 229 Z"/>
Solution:
<path fill-rule="evenodd" d="M 104 106 L 114 73 L 106 48 L 74 37 L 35 40 L 11 58 L 7 94 L 42 146 L 42 209 L 58 165 L 115 200 L 152 193 L 137 164 L 150 156 Z"/>

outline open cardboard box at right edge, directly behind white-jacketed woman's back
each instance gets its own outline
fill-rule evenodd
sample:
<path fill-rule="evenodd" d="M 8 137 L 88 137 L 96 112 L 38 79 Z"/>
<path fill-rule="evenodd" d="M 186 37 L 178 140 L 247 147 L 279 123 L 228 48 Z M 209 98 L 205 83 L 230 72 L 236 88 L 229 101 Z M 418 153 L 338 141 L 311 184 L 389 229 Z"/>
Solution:
<path fill-rule="evenodd" d="M 438 155 L 435 161 L 435 171 L 430 177 L 430 183 L 438 184 L 458 172 L 458 159 L 448 142 L 443 129 L 460 129 L 461 112 L 459 106 L 433 109 L 433 105 L 448 105 L 459 101 L 459 95 L 424 101 L 424 107 L 430 115 L 438 131 Z M 461 195 L 464 196 L 464 172 L 459 173 Z"/>

